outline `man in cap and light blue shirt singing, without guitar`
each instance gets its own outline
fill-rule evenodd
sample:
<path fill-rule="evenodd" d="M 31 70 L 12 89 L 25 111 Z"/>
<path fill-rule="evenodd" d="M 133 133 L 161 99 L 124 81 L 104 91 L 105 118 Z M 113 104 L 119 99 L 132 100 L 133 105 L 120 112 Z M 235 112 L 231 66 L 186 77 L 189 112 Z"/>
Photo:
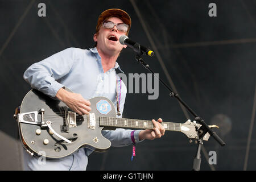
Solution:
<path fill-rule="evenodd" d="M 24 79 L 32 88 L 48 96 L 63 101 L 77 114 L 90 113 L 89 98 L 102 96 L 111 100 L 122 117 L 125 104 L 126 86 L 117 75 L 121 71 L 117 58 L 123 46 L 119 43 L 122 35 L 128 35 L 131 18 L 123 10 L 109 9 L 98 18 L 93 40 L 96 46 L 90 49 L 67 48 L 61 52 L 32 64 Z M 122 71 L 121 71 L 122 72 Z M 117 84 L 117 80 L 121 84 Z M 121 85 L 121 86 L 120 86 Z M 68 92 L 65 87 L 72 90 Z M 119 97 L 117 97 L 119 96 Z M 114 147 L 127 146 L 144 139 L 160 138 L 164 135 L 162 119 L 152 119 L 154 129 L 146 130 L 102 130 L 102 135 L 109 139 Z M 89 148 L 80 148 L 72 155 L 61 160 L 46 160 L 39 164 L 38 159 L 24 152 L 26 170 L 85 170 L 88 164 Z"/>

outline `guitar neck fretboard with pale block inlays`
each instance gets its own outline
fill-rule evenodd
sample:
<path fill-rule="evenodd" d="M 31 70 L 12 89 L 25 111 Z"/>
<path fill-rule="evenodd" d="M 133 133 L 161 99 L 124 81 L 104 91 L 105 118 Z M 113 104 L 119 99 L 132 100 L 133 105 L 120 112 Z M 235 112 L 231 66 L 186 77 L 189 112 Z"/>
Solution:
<path fill-rule="evenodd" d="M 99 117 L 100 126 L 108 127 L 122 127 L 130 129 L 153 129 L 152 121 L 141 119 L 126 119 L 126 118 L 112 118 L 112 117 Z M 164 129 L 167 131 L 180 131 L 181 123 L 162 122 Z"/>

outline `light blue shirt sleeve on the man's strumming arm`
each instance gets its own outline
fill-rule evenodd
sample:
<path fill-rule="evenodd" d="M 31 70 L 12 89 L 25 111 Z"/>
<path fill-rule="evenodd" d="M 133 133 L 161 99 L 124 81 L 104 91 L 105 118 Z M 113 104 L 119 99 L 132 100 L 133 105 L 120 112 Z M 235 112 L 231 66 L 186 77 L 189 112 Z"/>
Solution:
<path fill-rule="evenodd" d="M 75 48 L 67 48 L 46 59 L 32 64 L 23 75 L 24 80 L 34 89 L 55 97 L 64 85 L 57 82 L 67 75 L 76 60 Z"/>

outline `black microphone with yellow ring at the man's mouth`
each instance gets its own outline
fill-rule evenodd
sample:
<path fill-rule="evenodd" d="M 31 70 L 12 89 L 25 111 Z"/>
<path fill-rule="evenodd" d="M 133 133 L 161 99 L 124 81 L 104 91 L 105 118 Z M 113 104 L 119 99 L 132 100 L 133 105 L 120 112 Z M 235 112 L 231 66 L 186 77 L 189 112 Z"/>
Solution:
<path fill-rule="evenodd" d="M 137 53 L 146 54 L 146 55 L 148 55 L 150 57 L 154 56 L 154 52 L 153 51 L 151 51 L 149 48 L 146 48 L 146 47 L 142 46 L 141 44 L 139 44 L 137 42 L 133 42 L 126 35 L 122 35 L 119 38 L 119 42 L 122 45 L 127 45 L 128 47 L 132 48 Z"/>

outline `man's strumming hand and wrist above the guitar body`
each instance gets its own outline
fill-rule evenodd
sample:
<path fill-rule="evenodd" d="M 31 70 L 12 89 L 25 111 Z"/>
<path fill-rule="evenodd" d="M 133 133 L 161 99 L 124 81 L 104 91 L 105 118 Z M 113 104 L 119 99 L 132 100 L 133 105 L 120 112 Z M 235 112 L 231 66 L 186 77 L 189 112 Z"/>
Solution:
<path fill-rule="evenodd" d="M 89 111 L 92 110 L 90 108 L 90 101 L 85 100 L 81 94 L 68 92 L 67 90 L 61 88 L 57 92 L 56 97 L 63 101 L 71 110 L 77 114 L 89 114 Z"/>

